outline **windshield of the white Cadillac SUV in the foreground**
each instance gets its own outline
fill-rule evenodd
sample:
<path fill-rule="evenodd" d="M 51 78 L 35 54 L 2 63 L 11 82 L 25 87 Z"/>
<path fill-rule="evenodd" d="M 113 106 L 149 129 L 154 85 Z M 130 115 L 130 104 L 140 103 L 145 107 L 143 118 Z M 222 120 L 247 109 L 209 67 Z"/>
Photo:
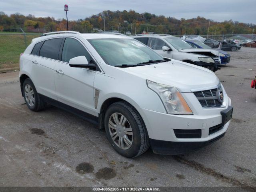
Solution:
<path fill-rule="evenodd" d="M 162 56 L 134 39 L 102 38 L 88 41 L 108 65 L 130 66 L 150 60 L 164 60 Z"/>

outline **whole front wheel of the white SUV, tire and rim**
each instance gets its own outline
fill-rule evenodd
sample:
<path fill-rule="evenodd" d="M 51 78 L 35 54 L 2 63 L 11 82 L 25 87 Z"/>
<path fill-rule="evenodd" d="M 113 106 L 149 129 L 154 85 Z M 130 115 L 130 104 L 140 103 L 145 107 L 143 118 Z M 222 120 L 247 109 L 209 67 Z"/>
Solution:
<path fill-rule="evenodd" d="M 108 107 L 104 126 L 112 147 L 122 156 L 134 158 L 149 148 L 146 126 L 135 108 L 126 102 Z"/>

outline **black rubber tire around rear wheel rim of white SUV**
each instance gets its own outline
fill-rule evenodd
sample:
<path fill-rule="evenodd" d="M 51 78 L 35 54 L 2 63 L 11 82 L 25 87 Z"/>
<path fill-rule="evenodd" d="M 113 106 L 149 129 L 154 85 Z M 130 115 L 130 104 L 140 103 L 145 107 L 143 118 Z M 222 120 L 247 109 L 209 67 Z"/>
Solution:
<path fill-rule="evenodd" d="M 34 100 L 35 101 L 34 101 L 34 105 L 33 106 L 30 106 L 30 104 L 28 104 L 28 101 L 26 100 L 26 97 L 25 97 L 25 86 L 26 85 L 29 85 L 32 88 L 32 90 L 34 91 Z M 46 107 L 46 102 L 44 102 L 40 98 L 39 94 L 36 91 L 36 88 L 35 88 L 33 82 L 29 78 L 24 80 L 23 86 L 22 86 L 22 92 L 23 92 L 24 100 L 25 100 L 25 102 L 26 102 L 26 104 L 27 104 L 27 106 L 28 106 L 28 108 L 30 110 L 32 110 L 32 111 L 40 111 L 40 110 L 43 110 Z"/>

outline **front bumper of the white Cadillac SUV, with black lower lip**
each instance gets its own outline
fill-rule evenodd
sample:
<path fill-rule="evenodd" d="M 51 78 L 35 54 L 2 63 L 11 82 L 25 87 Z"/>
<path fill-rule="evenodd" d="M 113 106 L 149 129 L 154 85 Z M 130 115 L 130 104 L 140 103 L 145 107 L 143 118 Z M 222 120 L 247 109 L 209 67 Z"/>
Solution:
<path fill-rule="evenodd" d="M 224 136 L 230 121 L 214 133 L 213 127 L 222 124 L 221 112 L 231 105 L 226 96 L 221 108 L 202 108 L 193 93 L 182 93 L 193 115 L 172 115 L 143 109 L 142 118 L 146 124 L 151 147 L 158 154 L 181 154 L 208 145 Z M 176 130 L 201 130 L 197 138 L 178 138 Z"/>

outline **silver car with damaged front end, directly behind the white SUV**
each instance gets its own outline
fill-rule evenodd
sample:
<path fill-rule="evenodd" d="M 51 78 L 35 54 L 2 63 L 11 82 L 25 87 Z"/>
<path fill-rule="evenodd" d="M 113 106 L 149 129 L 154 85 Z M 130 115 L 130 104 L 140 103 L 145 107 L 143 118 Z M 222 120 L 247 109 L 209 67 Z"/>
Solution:
<path fill-rule="evenodd" d="M 184 40 L 165 34 L 133 35 L 132 37 L 164 57 L 206 67 L 212 71 L 218 70 L 220 57 L 216 50 L 195 49 Z"/>

